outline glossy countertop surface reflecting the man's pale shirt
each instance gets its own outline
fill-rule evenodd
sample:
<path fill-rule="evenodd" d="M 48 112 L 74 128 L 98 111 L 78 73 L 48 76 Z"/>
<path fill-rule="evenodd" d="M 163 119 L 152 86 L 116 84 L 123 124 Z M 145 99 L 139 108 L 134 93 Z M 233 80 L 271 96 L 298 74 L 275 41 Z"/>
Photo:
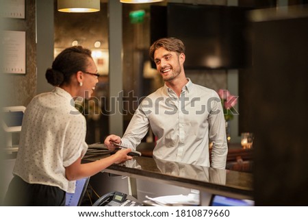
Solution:
<path fill-rule="evenodd" d="M 243 191 L 253 191 L 253 178 L 251 173 L 201 167 L 193 164 L 144 157 L 133 158 L 123 164 L 114 164 L 108 169 L 120 171 L 124 167 L 140 169 L 147 175 L 153 173 L 154 176 L 157 175 L 157 178 L 162 174 L 163 176 L 168 175 L 170 180 L 179 179 L 180 182 L 190 182 L 190 180 L 193 180 L 203 182 L 204 184 L 217 184 L 238 188 Z"/>

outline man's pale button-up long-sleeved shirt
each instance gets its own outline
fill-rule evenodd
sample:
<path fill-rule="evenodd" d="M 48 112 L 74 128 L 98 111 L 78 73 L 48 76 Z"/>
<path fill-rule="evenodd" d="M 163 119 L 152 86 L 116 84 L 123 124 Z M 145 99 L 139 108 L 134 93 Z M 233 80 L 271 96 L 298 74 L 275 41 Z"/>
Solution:
<path fill-rule="evenodd" d="M 209 141 L 213 142 L 211 167 L 225 169 L 227 138 L 218 94 L 189 79 L 180 97 L 166 84 L 140 103 L 122 138 L 133 149 L 151 126 L 157 137 L 153 156 L 209 167 Z"/>

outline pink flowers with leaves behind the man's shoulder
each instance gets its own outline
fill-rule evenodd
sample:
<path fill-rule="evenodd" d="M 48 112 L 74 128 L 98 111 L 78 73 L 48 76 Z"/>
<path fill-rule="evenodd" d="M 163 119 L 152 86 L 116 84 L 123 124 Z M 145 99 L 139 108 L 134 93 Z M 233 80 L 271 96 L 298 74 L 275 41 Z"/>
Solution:
<path fill-rule="evenodd" d="M 224 119 L 230 121 L 233 119 L 234 114 L 238 114 L 234 106 L 238 103 L 238 96 L 231 95 L 229 90 L 218 90 L 218 95 L 222 103 L 222 109 L 224 110 Z"/>

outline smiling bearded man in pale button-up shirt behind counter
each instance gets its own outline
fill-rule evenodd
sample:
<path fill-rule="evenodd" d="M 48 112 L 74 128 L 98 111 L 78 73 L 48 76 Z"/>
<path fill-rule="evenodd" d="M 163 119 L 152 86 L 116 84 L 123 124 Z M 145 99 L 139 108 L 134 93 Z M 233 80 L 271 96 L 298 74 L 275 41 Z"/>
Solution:
<path fill-rule="evenodd" d="M 136 149 L 151 126 L 157 137 L 154 158 L 225 169 L 228 147 L 218 94 L 185 77 L 181 40 L 157 40 L 149 53 L 165 84 L 142 100 L 123 138 L 112 134 L 105 145 L 114 150 L 112 142 L 116 142 Z M 211 164 L 209 142 L 213 143 Z"/>

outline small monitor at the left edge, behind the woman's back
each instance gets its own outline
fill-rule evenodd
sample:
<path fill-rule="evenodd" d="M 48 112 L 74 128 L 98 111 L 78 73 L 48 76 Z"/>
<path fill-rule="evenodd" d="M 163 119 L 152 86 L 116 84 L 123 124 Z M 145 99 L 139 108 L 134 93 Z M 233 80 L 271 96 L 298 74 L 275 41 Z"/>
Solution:
<path fill-rule="evenodd" d="M 5 132 L 20 132 L 25 106 L 4 107 L 2 110 L 2 127 Z"/>

